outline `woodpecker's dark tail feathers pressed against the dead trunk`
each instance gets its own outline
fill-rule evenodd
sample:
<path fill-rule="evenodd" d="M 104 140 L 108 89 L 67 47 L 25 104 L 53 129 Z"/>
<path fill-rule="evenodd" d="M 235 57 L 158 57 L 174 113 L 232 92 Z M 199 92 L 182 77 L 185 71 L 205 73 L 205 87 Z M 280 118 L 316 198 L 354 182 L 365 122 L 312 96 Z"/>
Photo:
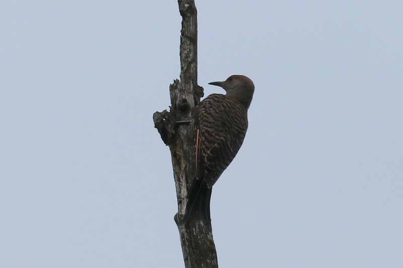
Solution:
<path fill-rule="evenodd" d="M 190 218 L 203 217 L 210 221 L 210 199 L 212 189 L 204 179 L 194 178 L 187 193 L 187 203 L 184 216 L 186 223 Z"/>

